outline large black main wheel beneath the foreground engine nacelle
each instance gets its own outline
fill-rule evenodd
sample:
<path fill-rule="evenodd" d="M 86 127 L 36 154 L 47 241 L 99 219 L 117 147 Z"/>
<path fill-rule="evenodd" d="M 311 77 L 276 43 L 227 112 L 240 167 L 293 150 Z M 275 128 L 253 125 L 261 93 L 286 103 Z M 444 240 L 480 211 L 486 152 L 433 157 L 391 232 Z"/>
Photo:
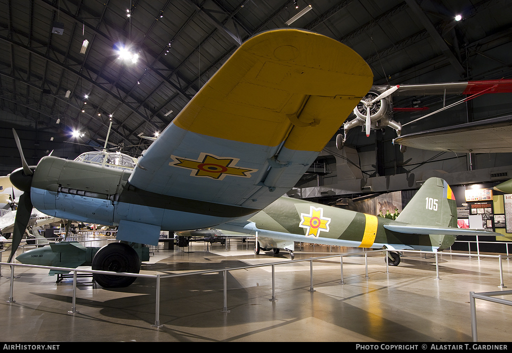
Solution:
<path fill-rule="evenodd" d="M 133 247 L 124 243 L 103 246 L 93 258 L 92 269 L 112 272 L 140 272 L 140 259 Z M 121 288 L 132 284 L 137 278 L 93 274 L 93 279 L 103 288 Z"/>

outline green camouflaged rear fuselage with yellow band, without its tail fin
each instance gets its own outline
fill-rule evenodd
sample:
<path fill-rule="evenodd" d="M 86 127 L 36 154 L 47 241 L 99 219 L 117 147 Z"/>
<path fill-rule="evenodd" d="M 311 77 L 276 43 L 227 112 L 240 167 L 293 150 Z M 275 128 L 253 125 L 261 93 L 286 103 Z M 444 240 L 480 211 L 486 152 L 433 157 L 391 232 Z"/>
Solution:
<path fill-rule="evenodd" d="M 394 232 L 385 225 L 408 223 L 289 197 L 274 201 L 249 221 L 243 228 L 221 228 L 274 239 L 365 248 L 436 251 L 455 241 L 451 235 Z"/>

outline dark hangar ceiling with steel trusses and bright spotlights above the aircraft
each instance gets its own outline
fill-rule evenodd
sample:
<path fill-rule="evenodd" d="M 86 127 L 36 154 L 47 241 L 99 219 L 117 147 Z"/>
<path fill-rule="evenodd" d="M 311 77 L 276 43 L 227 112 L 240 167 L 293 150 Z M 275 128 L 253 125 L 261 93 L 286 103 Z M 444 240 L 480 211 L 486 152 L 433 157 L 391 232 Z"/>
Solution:
<path fill-rule="evenodd" d="M 509 1 L 296 3 L 298 9 L 293 1 L 270 0 L 0 0 L 0 174 L 19 166 L 12 128 L 21 132 L 34 164 L 52 150 L 73 159 L 102 147 L 110 122 L 111 147 L 142 153 L 150 141 L 140 135 L 165 129 L 240 43 L 287 28 L 286 20 L 309 4 L 313 10 L 293 26 L 354 49 L 372 68 L 375 84 L 512 78 Z M 52 33 L 55 22 L 63 24 L 63 34 Z M 84 39 L 89 45 L 81 54 Z M 121 45 L 140 55 L 136 64 L 117 58 Z M 411 101 L 399 97 L 394 104 L 409 107 Z M 439 97 L 422 101 L 432 109 L 445 103 Z M 512 114 L 510 101 L 508 94 L 482 97 L 408 129 Z M 395 119 L 416 117 L 400 113 Z M 346 118 L 340 117 L 340 126 Z M 84 137 L 72 138 L 72 129 Z M 408 163 L 438 168 L 428 164 L 437 159 L 427 152 L 399 155 L 390 143 L 393 131 L 363 135 L 351 132 L 348 144 L 368 175 L 404 172 Z M 488 167 L 506 157 L 485 158 Z"/>

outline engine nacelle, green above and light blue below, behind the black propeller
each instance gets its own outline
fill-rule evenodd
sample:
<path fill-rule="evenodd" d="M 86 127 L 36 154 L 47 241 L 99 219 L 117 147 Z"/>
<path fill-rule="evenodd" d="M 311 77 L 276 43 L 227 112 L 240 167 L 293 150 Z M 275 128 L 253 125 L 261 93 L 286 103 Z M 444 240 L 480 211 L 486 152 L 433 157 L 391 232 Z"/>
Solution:
<path fill-rule="evenodd" d="M 148 225 L 150 233 L 158 234 L 210 227 L 258 211 L 143 191 L 129 184 L 130 175 L 130 171 L 44 157 L 34 172 L 31 200 L 37 210 L 54 217 L 103 225 L 125 222 L 130 225 L 128 232 L 134 224 Z M 126 240 L 155 242 L 142 234 Z"/>

